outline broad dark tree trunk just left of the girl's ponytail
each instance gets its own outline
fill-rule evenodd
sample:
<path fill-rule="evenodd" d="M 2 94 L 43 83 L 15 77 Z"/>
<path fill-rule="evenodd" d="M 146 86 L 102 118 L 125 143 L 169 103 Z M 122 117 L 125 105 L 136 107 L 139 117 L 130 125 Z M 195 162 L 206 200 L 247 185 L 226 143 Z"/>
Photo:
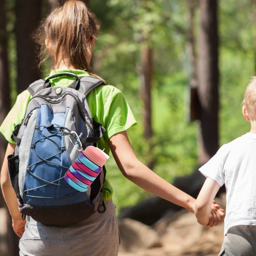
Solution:
<path fill-rule="evenodd" d="M 42 0 L 16 0 L 17 93 L 26 90 L 40 76 L 31 33 L 41 20 L 41 4 Z"/>

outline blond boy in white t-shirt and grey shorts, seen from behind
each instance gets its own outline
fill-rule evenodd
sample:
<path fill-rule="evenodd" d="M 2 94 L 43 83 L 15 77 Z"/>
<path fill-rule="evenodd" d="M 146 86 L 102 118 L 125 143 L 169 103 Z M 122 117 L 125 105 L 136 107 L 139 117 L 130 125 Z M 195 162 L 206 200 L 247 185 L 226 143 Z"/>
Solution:
<path fill-rule="evenodd" d="M 249 133 L 223 145 L 199 170 L 206 181 L 195 204 L 202 225 L 208 223 L 211 200 L 225 184 L 227 191 L 224 242 L 219 255 L 256 255 L 256 77 L 244 94 L 243 115 Z"/>

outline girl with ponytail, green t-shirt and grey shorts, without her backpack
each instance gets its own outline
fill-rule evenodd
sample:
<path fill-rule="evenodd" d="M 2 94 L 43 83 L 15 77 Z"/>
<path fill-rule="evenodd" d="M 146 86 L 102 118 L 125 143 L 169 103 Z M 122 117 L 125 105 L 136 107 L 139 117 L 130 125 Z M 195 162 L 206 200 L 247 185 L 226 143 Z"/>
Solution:
<path fill-rule="evenodd" d="M 46 45 L 49 56 L 54 61 L 50 75 L 72 72 L 78 77 L 95 76 L 92 74 L 90 61 L 98 32 L 97 18 L 82 2 L 70 0 L 54 9 L 42 23 L 38 33 L 41 46 Z M 68 87 L 73 80 L 73 77 L 68 76 L 57 77 L 51 79 L 51 84 L 53 87 Z M 28 90 L 19 94 L 0 127 L 1 133 L 9 141 L 6 156 L 14 151 L 15 143 L 10 136 L 14 126 L 22 121 L 31 97 Z M 135 125 L 136 120 L 122 93 L 113 86 L 99 86 L 88 95 L 87 101 L 92 117 L 105 128 L 98 147 L 105 149 L 107 154 L 112 152 L 122 174 L 150 193 L 194 212 L 194 198 L 160 178 L 134 154 L 126 130 Z M 21 219 L 8 176 L 6 158 L 2 167 L 1 186 L 12 216 L 14 231 L 21 237 L 20 256 L 118 254 L 120 238 L 108 174 L 102 192 L 106 210 L 102 213 L 96 211 L 88 219 L 69 227 L 42 225 L 30 216 L 25 221 Z M 223 216 L 218 206 L 212 206 L 210 225 L 219 223 L 214 212 Z"/>

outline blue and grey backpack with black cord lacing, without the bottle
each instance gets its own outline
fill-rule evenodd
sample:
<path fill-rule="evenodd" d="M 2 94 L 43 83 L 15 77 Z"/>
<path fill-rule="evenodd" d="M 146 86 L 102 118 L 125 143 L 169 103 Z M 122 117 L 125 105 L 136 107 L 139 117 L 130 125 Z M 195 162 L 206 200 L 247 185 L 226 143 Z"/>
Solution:
<path fill-rule="evenodd" d="M 69 87 L 52 87 L 50 79 L 72 76 Z M 37 80 L 25 117 L 12 134 L 14 154 L 8 156 L 9 176 L 19 211 L 45 225 L 66 226 L 105 210 L 102 186 L 105 168 L 90 188 L 81 193 L 63 179 L 72 162 L 94 145 L 105 129 L 91 116 L 87 95 L 104 84 L 94 77 L 60 73 Z"/>

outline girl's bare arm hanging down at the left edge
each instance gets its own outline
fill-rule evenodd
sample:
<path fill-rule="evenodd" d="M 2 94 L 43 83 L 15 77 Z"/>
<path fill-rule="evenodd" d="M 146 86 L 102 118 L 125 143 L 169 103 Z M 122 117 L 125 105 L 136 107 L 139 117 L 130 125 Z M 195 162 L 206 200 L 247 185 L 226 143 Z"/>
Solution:
<path fill-rule="evenodd" d="M 3 195 L 12 217 L 13 229 L 18 237 L 22 237 L 26 221 L 22 221 L 22 214 L 18 210 L 17 198 L 9 179 L 8 162 L 7 162 L 7 156 L 13 154 L 14 148 L 15 148 L 15 145 L 11 143 L 9 143 L 7 146 L 5 159 L 4 159 L 2 170 L 1 170 L 0 181 L 1 181 L 1 188 L 3 191 Z"/>

